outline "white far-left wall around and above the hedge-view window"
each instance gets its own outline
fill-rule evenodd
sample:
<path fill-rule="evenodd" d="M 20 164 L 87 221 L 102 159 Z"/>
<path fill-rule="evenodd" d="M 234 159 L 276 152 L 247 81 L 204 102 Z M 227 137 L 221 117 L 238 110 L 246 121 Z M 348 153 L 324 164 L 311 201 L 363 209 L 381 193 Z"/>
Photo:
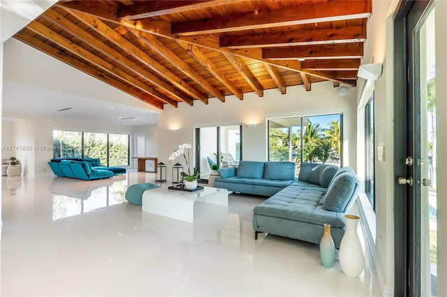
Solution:
<path fill-rule="evenodd" d="M 18 146 L 13 155 L 22 163 L 24 176 L 52 176 L 47 162 L 52 159 L 53 130 L 69 130 L 80 132 L 133 134 L 131 126 L 111 125 L 95 121 L 83 121 L 65 118 L 29 116 L 25 114 L 3 113 L 3 117 L 16 119 L 8 122 L 13 126 L 13 139 L 8 145 Z M 5 121 L 3 121 L 5 123 Z M 11 141 L 9 139 L 8 141 Z M 6 145 L 6 144 L 3 144 Z"/>

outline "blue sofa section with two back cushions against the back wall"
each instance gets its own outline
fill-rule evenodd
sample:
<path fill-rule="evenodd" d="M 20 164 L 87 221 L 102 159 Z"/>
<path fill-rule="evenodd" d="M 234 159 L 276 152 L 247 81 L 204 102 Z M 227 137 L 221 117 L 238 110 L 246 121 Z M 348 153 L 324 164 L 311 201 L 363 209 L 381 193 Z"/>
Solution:
<path fill-rule="evenodd" d="M 294 162 L 241 160 L 238 167 L 221 167 L 215 188 L 244 194 L 272 196 L 295 182 Z"/>

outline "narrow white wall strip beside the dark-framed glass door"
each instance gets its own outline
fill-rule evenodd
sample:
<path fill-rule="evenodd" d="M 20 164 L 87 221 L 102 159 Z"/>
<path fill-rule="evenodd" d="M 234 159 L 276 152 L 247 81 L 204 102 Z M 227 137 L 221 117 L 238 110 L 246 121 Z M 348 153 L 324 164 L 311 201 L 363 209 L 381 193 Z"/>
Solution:
<path fill-rule="evenodd" d="M 372 83 L 374 90 L 374 155 L 375 155 L 375 226 L 371 227 L 375 239 L 376 272 L 383 295 L 392 295 L 394 290 L 394 170 L 393 170 L 393 1 L 373 1 L 372 17 L 367 24 L 367 41 L 365 43 L 362 64 L 383 63 L 382 75 Z M 386 33 L 384 33 L 386 32 Z M 358 126 L 364 130 L 364 103 L 362 91 L 366 82 L 358 80 Z M 365 94 L 363 94 L 365 96 Z M 362 99 L 362 101 L 360 101 Z M 362 131 L 359 136 L 364 135 Z M 361 137 L 361 136 L 360 136 Z M 384 146 L 385 161 L 377 158 L 377 146 Z M 358 157 L 365 156 L 365 146 L 359 144 Z M 359 175 L 364 180 L 365 162 L 358 163 Z M 362 200 L 363 201 L 363 200 Z M 365 209 L 370 207 L 365 206 Z"/>

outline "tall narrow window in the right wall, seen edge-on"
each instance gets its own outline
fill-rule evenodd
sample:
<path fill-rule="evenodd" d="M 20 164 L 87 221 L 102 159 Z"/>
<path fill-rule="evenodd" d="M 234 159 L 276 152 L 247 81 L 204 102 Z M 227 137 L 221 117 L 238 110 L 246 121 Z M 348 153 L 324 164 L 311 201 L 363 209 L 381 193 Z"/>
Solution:
<path fill-rule="evenodd" d="M 374 207 L 374 93 L 365 106 L 365 150 L 365 192 Z"/>

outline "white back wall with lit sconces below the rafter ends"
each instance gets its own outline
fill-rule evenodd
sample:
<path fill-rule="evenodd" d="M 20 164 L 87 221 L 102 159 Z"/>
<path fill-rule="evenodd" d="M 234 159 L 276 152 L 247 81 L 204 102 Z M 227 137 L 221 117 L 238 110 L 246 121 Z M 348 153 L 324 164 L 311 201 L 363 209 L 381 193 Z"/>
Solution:
<path fill-rule="evenodd" d="M 275 89 L 264 91 L 263 98 L 247 93 L 244 100 L 227 96 L 224 103 L 210 99 L 208 105 L 195 101 L 193 107 L 183 103 L 177 109 L 166 106 L 159 115 L 159 160 L 166 163 L 170 153 L 181 143 L 193 144 L 194 128 L 198 126 L 255 123 L 256 128 L 243 126 L 242 156 L 244 160 L 265 161 L 268 152 L 267 119 L 333 113 L 344 114 L 343 165 L 356 169 L 356 91 L 355 88 L 350 89 L 347 96 L 339 97 L 332 82 L 312 84 L 311 92 L 302 86 L 293 86 L 287 88 L 285 95 Z M 173 129 L 177 132 L 172 132 Z M 172 164 L 168 165 L 168 172 L 171 167 Z"/>

